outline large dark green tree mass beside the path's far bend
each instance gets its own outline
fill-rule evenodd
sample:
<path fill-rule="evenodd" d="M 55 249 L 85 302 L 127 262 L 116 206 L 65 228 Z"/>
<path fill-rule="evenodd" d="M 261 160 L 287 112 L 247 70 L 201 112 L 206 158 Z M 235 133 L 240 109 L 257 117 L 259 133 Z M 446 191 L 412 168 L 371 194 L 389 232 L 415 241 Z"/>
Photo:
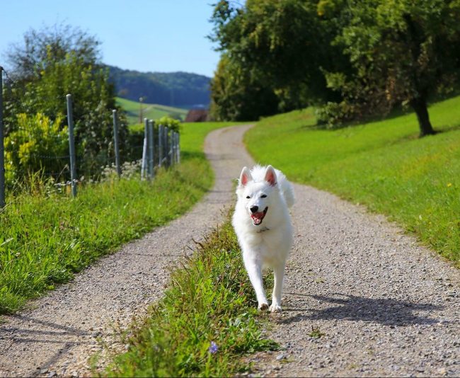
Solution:
<path fill-rule="evenodd" d="M 341 57 L 316 13 L 314 0 L 253 0 L 242 8 L 219 1 L 211 39 L 224 54 L 212 81 L 214 114 L 242 119 L 234 108 L 247 106 L 253 120 L 337 98 L 321 69 L 333 69 Z"/>

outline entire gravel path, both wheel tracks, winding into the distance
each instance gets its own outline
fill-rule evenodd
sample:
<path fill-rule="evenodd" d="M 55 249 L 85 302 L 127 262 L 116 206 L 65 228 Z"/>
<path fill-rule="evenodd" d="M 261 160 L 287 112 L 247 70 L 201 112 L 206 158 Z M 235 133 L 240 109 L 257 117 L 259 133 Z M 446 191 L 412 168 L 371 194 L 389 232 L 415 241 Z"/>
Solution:
<path fill-rule="evenodd" d="M 112 340 L 161 296 L 165 267 L 209 231 L 231 179 L 251 165 L 248 126 L 217 130 L 206 149 L 217 183 L 190 213 L 104 258 L 36 309 L 0 328 L 0 375 L 87 373 L 96 337 Z M 384 217 L 334 195 L 294 185 L 296 234 L 282 314 L 266 335 L 284 350 L 258 353 L 268 376 L 460 376 L 460 273 Z M 166 252 L 166 253 L 165 253 Z M 312 328 L 323 333 L 311 337 Z"/>

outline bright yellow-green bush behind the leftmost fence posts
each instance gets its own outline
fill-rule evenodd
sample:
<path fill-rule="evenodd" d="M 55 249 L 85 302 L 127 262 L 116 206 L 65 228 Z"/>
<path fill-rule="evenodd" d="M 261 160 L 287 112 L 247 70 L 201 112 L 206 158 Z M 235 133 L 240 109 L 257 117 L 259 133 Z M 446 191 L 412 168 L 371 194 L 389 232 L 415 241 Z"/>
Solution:
<path fill-rule="evenodd" d="M 50 156 L 65 156 L 69 153 L 69 134 L 62 127 L 62 119 L 54 122 L 46 115 L 37 113 L 18 115 L 18 130 L 5 138 L 5 166 L 8 180 L 15 181 L 16 174 L 45 171 L 55 176 L 62 171 L 62 162 Z"/>

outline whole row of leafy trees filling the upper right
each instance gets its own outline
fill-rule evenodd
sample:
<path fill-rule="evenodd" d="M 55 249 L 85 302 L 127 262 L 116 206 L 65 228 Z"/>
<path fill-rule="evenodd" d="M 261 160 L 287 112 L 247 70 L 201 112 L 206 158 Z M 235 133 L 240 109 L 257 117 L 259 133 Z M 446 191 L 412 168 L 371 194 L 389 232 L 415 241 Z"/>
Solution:
<path fill-rule="evenodd" d="M 459 84 L 458 0 L 233 4 L 219 1 L 212 17 L 211 39 L 223 52 L 212 82 L 219 118 L 260 101 L 253 87 L 263 84 L 277 110 L 323 104 L 328 125 L 410 105 L 425 135 L 434 132 L 427 101 Z M 264 114 L 253 107 L 251 119 Z"/>

